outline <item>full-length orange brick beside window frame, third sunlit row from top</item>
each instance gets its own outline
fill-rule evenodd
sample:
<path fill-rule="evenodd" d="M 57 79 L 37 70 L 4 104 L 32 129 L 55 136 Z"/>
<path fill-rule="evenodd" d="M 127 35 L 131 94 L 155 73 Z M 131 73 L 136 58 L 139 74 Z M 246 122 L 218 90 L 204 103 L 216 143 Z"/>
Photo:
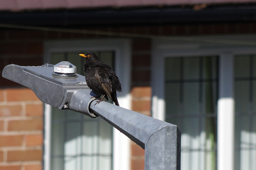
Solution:
<path fill-rule="evenodd" d="M 8 131 L 34 131 L 42 130 L 42 128 L 42 119 L 10 120 L 8 122 Z"/>

